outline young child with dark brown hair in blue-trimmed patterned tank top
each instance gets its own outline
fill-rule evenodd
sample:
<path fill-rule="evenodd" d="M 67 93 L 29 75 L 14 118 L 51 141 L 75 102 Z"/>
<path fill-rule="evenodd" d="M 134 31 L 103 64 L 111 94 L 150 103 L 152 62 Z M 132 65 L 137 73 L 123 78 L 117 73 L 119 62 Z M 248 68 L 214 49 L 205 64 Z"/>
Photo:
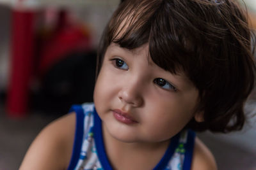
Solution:
<path fill-rule="evenodd" d="M 217 169 L 193 131 L 243 127 L 251 37 L 232 0 L 122 2 L 100 42 L 94 104 L 45 127 L 20 169 Z"/>

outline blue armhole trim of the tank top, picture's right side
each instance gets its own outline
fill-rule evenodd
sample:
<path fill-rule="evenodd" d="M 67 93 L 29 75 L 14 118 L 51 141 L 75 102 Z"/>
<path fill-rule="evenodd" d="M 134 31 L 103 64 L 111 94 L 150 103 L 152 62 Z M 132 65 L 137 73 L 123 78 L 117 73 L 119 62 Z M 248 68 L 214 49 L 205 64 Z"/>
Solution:
<path fill-rule="evenodd" d="M 195 144 L 195 132 L 188 130 L 188 138 L 185 146 L 185 159 L 183 164 L 183 170 L 189 170 L 193 158 L 194 144 Z"/>

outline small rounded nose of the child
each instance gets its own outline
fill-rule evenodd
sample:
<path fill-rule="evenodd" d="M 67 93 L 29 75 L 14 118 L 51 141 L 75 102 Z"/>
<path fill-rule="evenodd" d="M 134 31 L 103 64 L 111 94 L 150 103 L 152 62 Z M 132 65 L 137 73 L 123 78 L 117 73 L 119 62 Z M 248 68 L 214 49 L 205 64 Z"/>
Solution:
<path fill-rule="evenodd" d="M 124 82 L 124 87 L 118 92 L 118 98 L 124 104 L 140 107 L 143 104 L 142 85 L 139 81 Z"/>

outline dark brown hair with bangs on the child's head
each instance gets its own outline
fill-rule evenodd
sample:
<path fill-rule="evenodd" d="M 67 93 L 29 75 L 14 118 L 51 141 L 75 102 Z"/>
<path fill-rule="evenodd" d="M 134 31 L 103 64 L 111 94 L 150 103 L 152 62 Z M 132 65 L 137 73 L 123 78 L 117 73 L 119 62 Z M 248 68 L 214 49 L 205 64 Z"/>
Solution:
<path fill-rule="evenodd" d="M 187 127 L 239 130 L 255 85 L 252 36 L 246 12 L 232 0 L 126 0 L 104 31 L 97 71 L 111 42 L 128 49 L 148 43 L 157 66 L 182 71 L 199 91 L 204 122 Z"/>

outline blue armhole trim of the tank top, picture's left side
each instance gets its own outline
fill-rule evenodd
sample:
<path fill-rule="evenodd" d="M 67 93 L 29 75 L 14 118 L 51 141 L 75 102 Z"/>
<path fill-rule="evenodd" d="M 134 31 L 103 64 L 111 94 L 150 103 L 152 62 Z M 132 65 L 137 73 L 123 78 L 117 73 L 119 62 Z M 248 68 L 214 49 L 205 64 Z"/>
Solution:
<path fill-rule="evenodd" d="M 75 169 L 77 162 L 80 157 L 80 152 L 83 144 L 83 134 L 84 134 L 84 111 L 81 105 L 74 105 L 70 109 L 70 112 L 76 112 L 76 133 L 72 151 L 72 157 L 70 160 L 70 164 L 68 166 L 68 170 Z"/>

